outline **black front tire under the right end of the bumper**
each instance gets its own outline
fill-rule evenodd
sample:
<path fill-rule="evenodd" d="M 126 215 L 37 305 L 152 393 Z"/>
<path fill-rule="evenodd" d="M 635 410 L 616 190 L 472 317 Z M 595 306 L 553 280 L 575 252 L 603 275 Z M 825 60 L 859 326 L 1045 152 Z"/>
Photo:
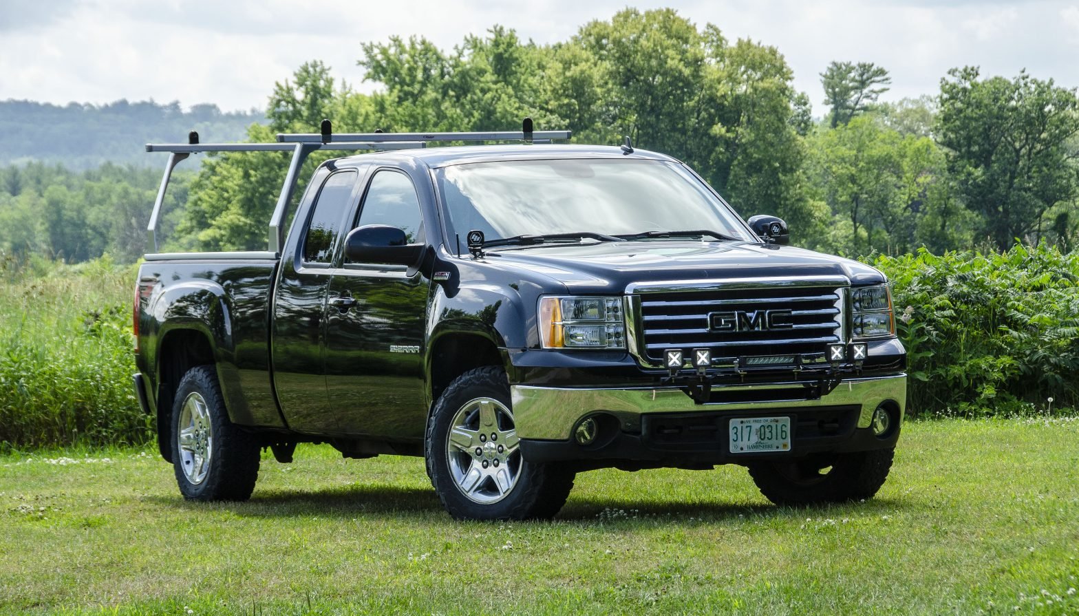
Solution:
<path fill-rule="evenodd" d="M 872 498 L 888 478 L 894 454 L 891 448 L 808 456 L 753 464 L 749 474 L 761 494 L 776 505 L 844 503 Z"/>

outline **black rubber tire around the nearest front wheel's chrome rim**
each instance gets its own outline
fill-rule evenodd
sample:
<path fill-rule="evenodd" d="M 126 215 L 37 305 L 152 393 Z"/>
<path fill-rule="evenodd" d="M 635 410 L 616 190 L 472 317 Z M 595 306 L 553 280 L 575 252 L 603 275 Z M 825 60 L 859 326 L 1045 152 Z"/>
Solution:
<path fill-rule="evenodd" d="M 520 457 L 519 449 L 515 450 L 515 454 L 508 454 L 510 457 L 502 462 L 504 468 L 516 465 L 513 466 L 516 470 L 516 482 L 505 495 L 491 496 L 500 498 L 496 502 L 477 502 L 459 487 L 451 469 L 451 455 L 461 460 L 461 464 L 464 460 L 479 464 L 483 457 L 477 453 L 476 461 L 472 461 L 468 454 L 452 449 L 450 430 L 454 425 L 454 419 L 460 413 L 467 413 L 467 406 L 477 400 L 498 402 L 501 405 L 498 408 L 503 409 L 500 411 L 498 421 L 507 421 L 505 411 L 510 409 L 509 382 L 501 368 L 493 366 L 477 368 L 454 379 L 438 397 L 427 420 L 424 457 L 427 476 L 431 477 L 431 483 L 435 487 L 442 506 L 459 520 L 527 520 L 555 517 L 565 504 L 576 474 L 563 465 L 525 462 Z M 510 412 L 508 420 L 511 419 Z M 501 433 L 504 424 L 498 424 L 500 434 L 503 434 Z M 477 430 L 481 432 L 482 429 Z M 490 446 L 492 442 L 487 441 L 486 444 Z M 484 481 L 489 480 L 484 478 L 479 483 Z M 491 485 L 493 491 L 500 491 L 494 481 L 490 479 L 488 485 Z"/>

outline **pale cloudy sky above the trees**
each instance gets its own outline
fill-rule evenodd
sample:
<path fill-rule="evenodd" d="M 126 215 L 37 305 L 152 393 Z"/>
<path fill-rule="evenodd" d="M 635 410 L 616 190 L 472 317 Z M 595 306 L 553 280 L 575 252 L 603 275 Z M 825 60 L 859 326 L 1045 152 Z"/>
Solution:
<path fill-rule="evenodd" d="M 820 72 L 832 60 L 872 61 L 892 76 L 883 99 L 935 94 L 952 67 L 983 76 L 1026 69 L 1079 86 L 1079 0 L 667 0 L 729 40 L 776 46 L 794 85 L 823 112 Z M 320 59 L 355 90 L 360 44 L 422 36 L 449 50 L 492 25 L 536 43 L 627 6 L 610 0 L 0 0 L 0 100 L 105 104 L 120 98 L 265 107 L 274 82 Z"/>

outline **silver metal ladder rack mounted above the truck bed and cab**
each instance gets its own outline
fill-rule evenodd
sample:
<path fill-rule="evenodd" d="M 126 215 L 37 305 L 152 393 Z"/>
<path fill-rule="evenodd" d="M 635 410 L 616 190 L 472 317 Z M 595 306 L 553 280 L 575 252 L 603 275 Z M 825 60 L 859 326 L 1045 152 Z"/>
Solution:
<path fill-rule="evenodd" d="M 572 131 L 533 131 L 532 119 L 525 118 L 521 131 L 492 131 L 479 133 L 342 133 L 333 134 L 329 120 L 323 120 L 318 133 L 278 133 L 277 141 L 273 143 L 200 143 L 199 133 L 188 134 L 187 143 L 147 143 L 147 152 L 168 152 L 165 174 L 161 178 L 161 188 L 153 202 L 150 213 L 150 223 L 147 232 L 150 245 L 158 251 L 158 225 L 161 221 L 161 209 L 165 202 L 165 189 L 173 176 L 173 169 L 191 154 L 202 152 L 292 152 L 292 161 L 288 165 L 288 174 L 274 206 L 268 232 L 269 251 L 281 252 L 285 244 L 285 216 L 288 202 L 296 191 L 300 167 L 308 155 L 317 150 L 410 150 L 426 148 L 427 143 L 436 141 L 522 141 L 529 143 L 550 142 L 552 139 L 569 139 Z"/>

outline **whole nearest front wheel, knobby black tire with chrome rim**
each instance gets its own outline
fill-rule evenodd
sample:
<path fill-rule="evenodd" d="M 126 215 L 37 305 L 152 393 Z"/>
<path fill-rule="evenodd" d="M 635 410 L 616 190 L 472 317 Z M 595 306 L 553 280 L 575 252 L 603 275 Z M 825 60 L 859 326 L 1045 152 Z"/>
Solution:
<path fill-rule="evenodd" d="M 563 465 L 521 457 L 509 382 L 497 367 L 457 377 L 427 420 L 427 476 L 446 510 L 459 520 L 555 517 L 573 489 Z"/>

